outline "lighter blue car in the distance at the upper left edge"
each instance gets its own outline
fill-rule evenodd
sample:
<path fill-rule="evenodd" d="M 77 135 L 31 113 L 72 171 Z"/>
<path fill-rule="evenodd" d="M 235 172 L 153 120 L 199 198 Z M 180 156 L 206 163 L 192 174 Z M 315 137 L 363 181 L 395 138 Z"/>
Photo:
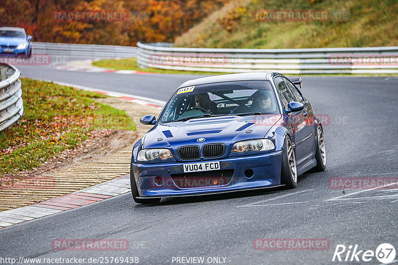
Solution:
<path fill-rule="evenodd" d="M 30 57 L 32 36 L 26 35 L 23 28 L 0 27 L 0 56 Z"/>

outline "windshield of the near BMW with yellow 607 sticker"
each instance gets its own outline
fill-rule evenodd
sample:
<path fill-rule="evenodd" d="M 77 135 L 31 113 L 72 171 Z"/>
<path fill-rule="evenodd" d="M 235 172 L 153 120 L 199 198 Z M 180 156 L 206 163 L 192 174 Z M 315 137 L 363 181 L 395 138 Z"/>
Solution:
<path fill-rule="evenodd" d="M 160 114 L 159 123 L 211 116 L 279 113 L 269 81 L 228 81 L 178 89 Z"/>

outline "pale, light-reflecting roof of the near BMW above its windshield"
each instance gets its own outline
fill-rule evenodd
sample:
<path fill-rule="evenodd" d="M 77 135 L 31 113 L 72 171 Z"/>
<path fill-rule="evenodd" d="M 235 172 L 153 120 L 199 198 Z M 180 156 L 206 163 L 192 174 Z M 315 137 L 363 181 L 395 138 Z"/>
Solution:
<path fill-rule="evenodd" d="M 278 73 L 275 72 L 243 72 L 243 73 L 228 73 L 228 74 L 219 74 L 219 75 L 211 75 L 206 77 L 200 77 L 196 79 L 191 79 L 179 86 L 186 87 L 192 85 L 199 84 L 208 84 L 208 83 L 216 83 L 216 82 L 226 82 L 226 81 L 239 81 L 239 80 L 268 80 L 272 78 L 272 76 Z"/>

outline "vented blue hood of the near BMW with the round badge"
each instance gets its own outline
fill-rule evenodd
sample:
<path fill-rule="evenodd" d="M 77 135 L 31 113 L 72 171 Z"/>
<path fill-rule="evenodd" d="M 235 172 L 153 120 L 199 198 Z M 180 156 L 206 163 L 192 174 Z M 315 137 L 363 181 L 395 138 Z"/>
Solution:
<path fill-rule="evenodd" d="M 222 116 L 192 119 L 186 122 L 161 124 L 146 133 L 143 148 L 171 147 L 182 145 L 263 138 L 282 115 Z M 204 138 L 199 142 L 199 138 Z"/>

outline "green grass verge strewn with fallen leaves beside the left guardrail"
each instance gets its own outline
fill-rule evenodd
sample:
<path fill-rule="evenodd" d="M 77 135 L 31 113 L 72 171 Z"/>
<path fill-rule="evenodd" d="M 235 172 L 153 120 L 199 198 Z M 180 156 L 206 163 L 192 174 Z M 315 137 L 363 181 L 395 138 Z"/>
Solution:
<path fill-rule="evenodd" d="M 95 102 L 105 95 L 20 78 L 24 114 L 0 133 L 0 177 L 32 169 L 75 149 L 101 129 L 135 130 L 124 111 Z"/>

